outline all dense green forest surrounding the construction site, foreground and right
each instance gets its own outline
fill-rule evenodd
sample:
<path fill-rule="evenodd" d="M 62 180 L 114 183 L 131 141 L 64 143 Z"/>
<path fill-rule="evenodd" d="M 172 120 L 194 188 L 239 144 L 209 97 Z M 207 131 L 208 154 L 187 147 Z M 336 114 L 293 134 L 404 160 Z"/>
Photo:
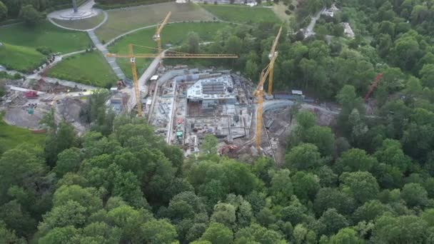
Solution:
<path fill-rule="evenodd" d="M 341 111 L 333 128 L 299 111 L 283 165 L 218 156 L 213 136 L 184 160 L 143 121 L 106 112 L 101 91 L 82 111 L 89 133 L 49 113 L 43 148 L 1 151 L 0 243 L 433 243 L 434 4 L 339 1 L 303 39 L 298 28 L 324 4 L 298 6 L 275 86 Z M 233 67 L 256 81 L 277 29 L 232 26 L 208 46 L 189 34 L 182 49 L 239 54 Z M 377 73 L 366 115 L 361 97 Z"/>

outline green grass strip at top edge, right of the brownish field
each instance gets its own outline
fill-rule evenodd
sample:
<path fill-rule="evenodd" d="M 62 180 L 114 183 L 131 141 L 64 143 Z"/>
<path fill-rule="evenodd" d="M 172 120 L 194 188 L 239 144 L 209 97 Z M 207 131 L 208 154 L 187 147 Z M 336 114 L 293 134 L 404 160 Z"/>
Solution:
<path fill-rule="evenodd" d="M 201 4 L 203 9 L 208 10 L 219 19 L 240 24 L 257 23 L 261 21 L 279 22 L 278 16 L 272 9 L 263 7 L 250 7 L 224 4 Z"/>

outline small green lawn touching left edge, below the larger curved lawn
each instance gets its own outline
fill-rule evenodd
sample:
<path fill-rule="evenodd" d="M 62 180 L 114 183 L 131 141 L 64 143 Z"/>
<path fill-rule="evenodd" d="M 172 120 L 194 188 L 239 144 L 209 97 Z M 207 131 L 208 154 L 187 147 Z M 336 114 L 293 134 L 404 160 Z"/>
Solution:
<path fill-rule="evenodd" d="M 46 61 L 46 56 L 26 46 L 0 46 L 0 64 L 8 69 L 29 73 Z"/>

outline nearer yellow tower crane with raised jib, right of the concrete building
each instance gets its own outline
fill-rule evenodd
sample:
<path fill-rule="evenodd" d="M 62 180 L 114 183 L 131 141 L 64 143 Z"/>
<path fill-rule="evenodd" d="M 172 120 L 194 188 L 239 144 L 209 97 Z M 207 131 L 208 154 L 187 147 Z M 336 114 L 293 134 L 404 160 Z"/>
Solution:
<path fill-rule="evenodd" d="M 276 36 L 276 39 L 274 39 L 273 46 L 271 46 L 271 55 L 270 55 L 270 63 L 268 63 L 268 66 L 263 69 L 261 72 L 261 77 L 259 79 L 258 86 L 256 86 L 256 91 L 253 93 L 256 98 L 258 98 L 258 110 L 256 111 L 256 137 L 255 137 L 255 146 L 256 148 L 261 147 L 261 135 L 262 135 L 262 112 L 263 112 L 263 84 L 266 82 L 267 76 L 270 75 L 271 78 L 273 78 L 273 66 L 274 61 L 277 59 L 277 52 L 276 52 L 276 46 L 278 44 L 278 40 L 281 37 L 282 27 L 279 29 L 279 32 Z M 269 85 L 268 83 L 268 93 L 271 93 L 270 88 L 273 88 L 273 85 Z"/>

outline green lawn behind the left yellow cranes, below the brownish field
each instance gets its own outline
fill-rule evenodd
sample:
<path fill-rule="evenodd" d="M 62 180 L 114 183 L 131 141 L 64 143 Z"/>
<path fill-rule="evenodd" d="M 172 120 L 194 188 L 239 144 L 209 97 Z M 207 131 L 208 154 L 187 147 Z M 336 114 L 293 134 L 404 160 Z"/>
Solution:
<path fill-rule="evenodd" d="M 225 23 L 176 23 L 168 24 L 161 32 L 161 41 L 163 46 L 171 44 L 172 46 L 180 46 L 183 41 L 186 41 L 188 32 L 195 31 L 201 38 L 201 41 L 211 41 L 219 29 L 223 29 L 229 24 Z M 116 41 L 116 44 L 109 46 L 109 51 L 113 54 L 128 54 L 128 44 L 137 44 L 140 46 L 150 46 L 156 48 L 156 42 L 153 41 L 152 36 L 154 29 L 143 29 L 133 34 L 125 36 L 123 39 Z M 136 54 L 153 53 L 151 49 L 144 49 L 135 47 Z M 128 78 L 131 78 L 131 66 L 128 59 L 118 59 L 118 65 L 121 67 L 123 73 Z M 148 66 L 151 59 L 136 59 L 139 74 L 143 73 L 144 69 Z"/>

